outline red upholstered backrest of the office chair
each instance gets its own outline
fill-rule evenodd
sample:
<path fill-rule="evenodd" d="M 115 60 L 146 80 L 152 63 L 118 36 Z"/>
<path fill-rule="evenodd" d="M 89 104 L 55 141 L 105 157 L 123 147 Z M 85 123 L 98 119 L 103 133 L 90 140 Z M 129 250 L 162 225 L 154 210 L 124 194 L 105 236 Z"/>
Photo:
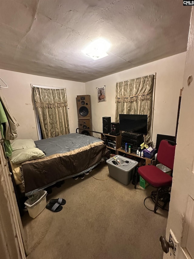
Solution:
<path fill-rule="evenodd" d="M 167 166 L 171 170 L 174 165 L 174 157 L 175 157 L 175 147 L 176 145 L 172 145 L 168 142 L 168 140 L 162 140 L 160 142 L 157 154 L 157 160 L 162 165 Z"/>

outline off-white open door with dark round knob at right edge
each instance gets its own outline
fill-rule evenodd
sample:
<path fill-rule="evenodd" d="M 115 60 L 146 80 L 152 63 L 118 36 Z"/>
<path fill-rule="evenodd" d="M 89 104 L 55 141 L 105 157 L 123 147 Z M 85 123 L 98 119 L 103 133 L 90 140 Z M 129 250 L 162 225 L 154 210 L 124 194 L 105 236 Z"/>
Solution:
<path fill-rule="evenodd" d="M 163 258 L 194 259 L 194 7 L 191 11 L 176 143 L 166 228 L 166 240 L 169 241 L 171 231 L 176 249 L 170 249 Z"/>

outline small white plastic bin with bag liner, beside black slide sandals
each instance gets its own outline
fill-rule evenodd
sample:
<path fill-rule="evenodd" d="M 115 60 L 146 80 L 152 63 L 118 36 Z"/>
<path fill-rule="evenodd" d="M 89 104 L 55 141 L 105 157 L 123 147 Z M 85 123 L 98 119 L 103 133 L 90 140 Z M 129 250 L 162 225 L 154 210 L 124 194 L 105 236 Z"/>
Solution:
<path fill-rule="evenodd" d="M 29 215 L 34 219 L 46 207 L 46 191 L 38 192 L 25 201 Z"/>

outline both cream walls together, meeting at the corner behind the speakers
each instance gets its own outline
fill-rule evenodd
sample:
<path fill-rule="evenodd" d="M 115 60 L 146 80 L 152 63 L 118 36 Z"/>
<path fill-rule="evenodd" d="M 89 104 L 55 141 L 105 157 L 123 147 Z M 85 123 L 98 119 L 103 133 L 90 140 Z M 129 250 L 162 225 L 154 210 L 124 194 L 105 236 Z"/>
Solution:
<path fill-rule="evenodd" d="M 152 141 L 157 134 L 175 135 L 179 92 L 182 88 L 186 53 L 157 60 L 142 66 L 102 77 L 87 83 L 79 83 L 49 77 L 40 77 L 8 70 L 0 70 L 0 77 L 8 84 L 8 89 L 1 89 L 18 120 L 18 138 L 38 139 L 35 115 L 32 105 L 30 84 L 65 87 L 68 98 L 70 132 L 75 132 L 78 125 L 75 97 L 80 94 L 91 95 L 92 125 L 96 131 L 102 131 L 102 117 L 111 116 L 115 121 L 116 82 L 156 72 L 156 91 Z M 107 101 L 97 102 L 96 87 L 106 86 Z"/>

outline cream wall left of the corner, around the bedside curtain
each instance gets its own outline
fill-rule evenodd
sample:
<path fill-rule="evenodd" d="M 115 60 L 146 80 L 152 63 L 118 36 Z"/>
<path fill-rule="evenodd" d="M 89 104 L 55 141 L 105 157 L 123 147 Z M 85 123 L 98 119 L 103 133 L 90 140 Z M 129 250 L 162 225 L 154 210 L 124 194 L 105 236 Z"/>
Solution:
<path fill-rule="evenodd" d="M 2 88 L 1 91 L 20 125 L 18 128 L 18 138 L 38 139 L 30 84 L 66 88 L 70 132 L 75 132 L 75 129 L 78 127 L 75 97 L 79 94 L 85 94 L 84 83 L 2 69 L 0 69 L 0 77 L 8 84 L 8 89 Z"/>

